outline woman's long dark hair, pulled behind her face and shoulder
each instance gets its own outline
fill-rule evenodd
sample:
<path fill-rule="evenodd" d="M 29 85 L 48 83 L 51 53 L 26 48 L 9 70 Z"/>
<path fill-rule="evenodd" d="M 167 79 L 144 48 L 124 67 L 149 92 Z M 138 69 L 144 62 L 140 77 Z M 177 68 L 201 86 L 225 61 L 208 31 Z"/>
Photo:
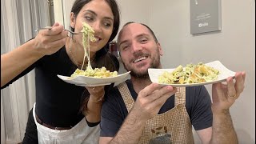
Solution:
<path fill-rule="evenodd" d="M 82 10 L 82 7 L 85 6 L 87 3 L 91 2 L 93 0 L 76 0 L 74 2 L 74 5 L 72 6 L 71 12 L 74 13 L 74 17 L 78 15 L 80 10 Z M 110 42 L 115 38 L 115 36 L 118 34 L 118 29 L 120 25 L 120 13 L 119 13 L 119 8 L 118 4 L 115 0 L 105 0 L 106 3 L 110 6 L 112 13 L 114 15 L 114 24 L 113 24 L 113 32 L 110 36 L 109 41 L 106 43 L 104 47 L 102 47 L 101 50 L 98 50 L 96 52 L 94 61 L 91 62 L 91 65 L 93 68 L 101 68 L 102 66 L 106 67 L 106 70 L 110 71 L 118 71 L 119 70 L 119 61 L 118 58 L 116 58 L 113 54 L 108 53 L 108 47 Z M 72 31 L 74 31 L 74 28 L 70 27 Z M 108 91 L 114 86 L 114 84 L 111 84 L 109 86 L 105 86 L 105 94 L 108 93 Z M 84 94 L 82 94 L 82 99 L 81 99 L 81 109 L 80 112 L 86 112 L 88 113 L 87 110 L 87 103 L 90 98 L 90 93 L 88 90 L 84 91 Z"/>

